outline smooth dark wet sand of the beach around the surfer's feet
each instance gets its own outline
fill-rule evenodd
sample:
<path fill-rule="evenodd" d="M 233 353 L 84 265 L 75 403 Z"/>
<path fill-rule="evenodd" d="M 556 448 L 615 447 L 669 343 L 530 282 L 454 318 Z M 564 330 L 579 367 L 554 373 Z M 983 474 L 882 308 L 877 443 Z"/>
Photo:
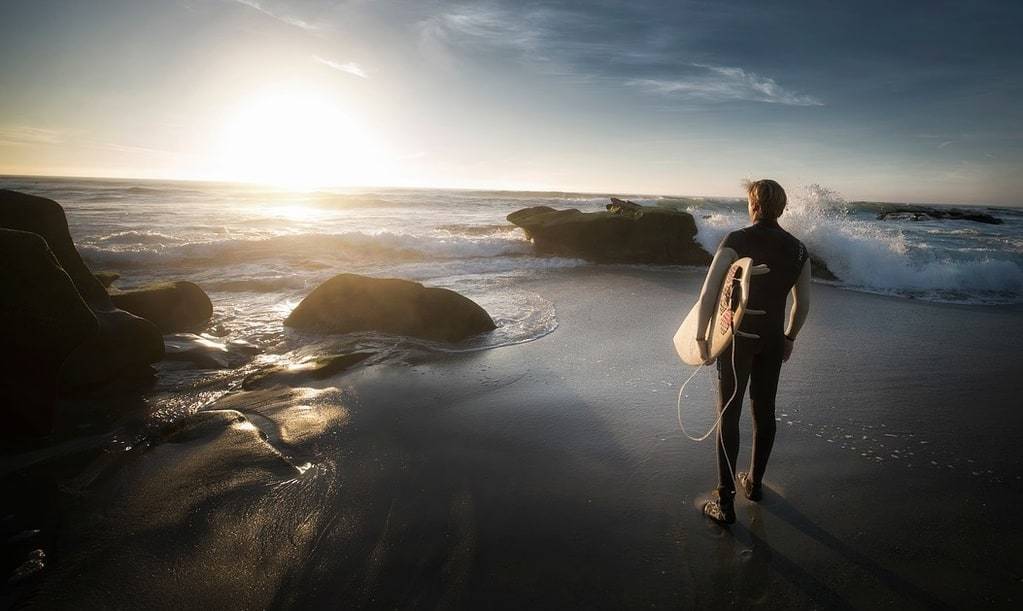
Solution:
<path fill-rule="evenodd" d="M 540 340 L 235 393 L 62 485 L 42 607 L 1013 608 L 1023 310 L 814 286 L 766 498 L 709 523 L 702 274 L 538 275 Z M 686 424 L 713 422 L 712 372 Z M 234 411 L 231 411 L 234 410 Z M 740 467 L 749 460 L 744 405 Z"/>

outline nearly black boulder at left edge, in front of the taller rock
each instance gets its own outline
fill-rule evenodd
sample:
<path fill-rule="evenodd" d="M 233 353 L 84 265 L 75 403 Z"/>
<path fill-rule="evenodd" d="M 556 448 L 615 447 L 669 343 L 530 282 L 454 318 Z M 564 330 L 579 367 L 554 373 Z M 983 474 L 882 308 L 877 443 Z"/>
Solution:
<path fill-rule="evenodd" d="M 4 436 L 48 433 L 60 365 L 99 322 L 38 234 L 0 229 L 0 261 Z"/>

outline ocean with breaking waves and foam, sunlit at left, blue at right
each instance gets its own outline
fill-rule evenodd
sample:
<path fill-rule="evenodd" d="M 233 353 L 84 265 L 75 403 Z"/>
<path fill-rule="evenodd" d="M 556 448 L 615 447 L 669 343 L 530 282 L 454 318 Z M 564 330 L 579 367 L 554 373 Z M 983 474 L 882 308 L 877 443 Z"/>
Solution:
<path fill-rule="evenodd" d="M 261 345 L 280 321 L 341 272 L 455 290 L 483 305 L 498 330 L 465 349 L 530 341 L 558 324 L 552 304 L 518 288 L 552 268 L 590 265 L 537 257 L 505 216 L 529 206 L 603 210 L 611 194 L 444 189 L 295 192 L 252 185 L 3 177 L 0 187 L 60 203 L 79 251 L 117 286 L 188 279 L 215 307 L 213 333 Z M 739 199 L 614 193 L 685 210 L 713 252 L 748 224 Z M 967 207 L 961 207 L 967 208 Z M 926 301 L 1023 301 L 1023 210 L 983 208 L 1004 220 L 877 220 L 878 204 L 847 203 L 819 185 L 792 188 L 781 222 L 824 259 L 839 286 Z M 681 310 L 680 310 L 681 311 Z"/>

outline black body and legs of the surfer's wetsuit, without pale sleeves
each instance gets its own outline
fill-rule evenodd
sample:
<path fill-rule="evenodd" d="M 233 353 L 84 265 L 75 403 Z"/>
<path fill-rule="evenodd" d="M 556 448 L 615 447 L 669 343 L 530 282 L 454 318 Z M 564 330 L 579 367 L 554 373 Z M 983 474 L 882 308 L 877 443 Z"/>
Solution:
<path fill-rule="evenodd" d="M 729 499 L 736 493 L 736 482 L 725 463 L 725 452 L 732 469 L 739 457 L 739 416 L 750 386 L 750 403 L 753 411 L 753 461 L 750 469 L 753 482 L 763 481 L 767 459 L 774 444 L 774 395 L 782 373 L 782 355 L 785 350 L 786 298 L 799 279 L 803 264 L 809 257 L 806 247 L 793 237 L 773 220 L 761 220 L 732 231 L 719 248 L 730 248 L 740 258 L 750 257 L 754 265 L 764 264 L 770 272 L 750 278 L 748 309 L 764 310 L 766 314 L 748 314 L 740 323 L 740 331 L 760 336 L 749 339 L 736 336 L 732 347 L 717 358 L 718 409 L 732 392 L 732 399 L 721 419 L 721 436 L 717 447 L 718 494 Z M 732 350 L 735 350 L 736 376 L 732 378 Z M 736 391 L 736 384 L 739 390 Z"/>

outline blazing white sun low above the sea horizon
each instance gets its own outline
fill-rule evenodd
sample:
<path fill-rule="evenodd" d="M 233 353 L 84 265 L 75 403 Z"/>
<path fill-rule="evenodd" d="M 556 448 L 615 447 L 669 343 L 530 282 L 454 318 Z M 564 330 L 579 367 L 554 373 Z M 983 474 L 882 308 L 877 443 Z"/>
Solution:
<path fill-rule="evenodd" d="M 364 123 L 312 91 L 248 96 L 223 122 L 216 155 L 219 173 L 241 182 L 312 188 L 384 178 L 379 146 Z"/>

